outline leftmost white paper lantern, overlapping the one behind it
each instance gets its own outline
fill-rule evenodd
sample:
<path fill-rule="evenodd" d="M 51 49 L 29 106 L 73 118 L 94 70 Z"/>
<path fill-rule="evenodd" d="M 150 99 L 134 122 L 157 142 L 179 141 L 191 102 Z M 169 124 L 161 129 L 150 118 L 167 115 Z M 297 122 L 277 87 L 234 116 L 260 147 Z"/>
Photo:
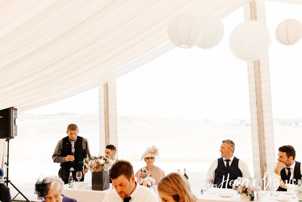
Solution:
<path fill-rule="evenodd" d="M 173 17 L 168 25 L 168 36 L 180 48 L 191 48 L 201 38 L 201 22 L 193 14 L 182 13 Z"/>

